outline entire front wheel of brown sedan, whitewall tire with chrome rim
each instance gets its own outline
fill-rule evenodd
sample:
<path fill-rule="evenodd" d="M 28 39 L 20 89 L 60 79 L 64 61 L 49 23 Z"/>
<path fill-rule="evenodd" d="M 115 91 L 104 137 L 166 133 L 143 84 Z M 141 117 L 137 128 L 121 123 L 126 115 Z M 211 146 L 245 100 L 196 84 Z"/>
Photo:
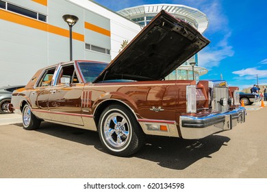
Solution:
<path fill-rule="evenodd" d="M 116 156 L 130 156 L 145 142 L 144 132 L 132 112 L 118 104 L 102 112 L 99 137 L 107 152 Z"/>

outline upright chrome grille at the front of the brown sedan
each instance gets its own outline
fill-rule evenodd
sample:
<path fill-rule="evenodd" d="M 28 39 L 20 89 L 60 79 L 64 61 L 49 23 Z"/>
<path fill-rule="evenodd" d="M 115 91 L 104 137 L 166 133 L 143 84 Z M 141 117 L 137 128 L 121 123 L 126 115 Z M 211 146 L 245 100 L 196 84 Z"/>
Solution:
<path fill-rule="evenodd" d="M 223 99 L 226 99 L 226 104 L 223 106 Z M 225 86 L 215 86 L 213 90 L 212 110 L 225 112 L 229 110 L 229 89 Z"/>

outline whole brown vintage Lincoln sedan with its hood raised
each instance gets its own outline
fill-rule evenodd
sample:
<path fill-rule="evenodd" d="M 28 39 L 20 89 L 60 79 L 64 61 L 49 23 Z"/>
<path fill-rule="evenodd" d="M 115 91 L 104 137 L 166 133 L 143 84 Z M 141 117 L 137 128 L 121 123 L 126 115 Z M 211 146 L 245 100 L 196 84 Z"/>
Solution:
<path fill-rule="evenodd" d="M 51 121 L 99 132 L 110 154 L 129 156 L 145 135 L 201 139 L 245 120 L 225 81 L 164 80 L 209 40 L 162 11 L 110 64 L 75 60 L 40 69 L 12 94 L 25 130 Z"/>

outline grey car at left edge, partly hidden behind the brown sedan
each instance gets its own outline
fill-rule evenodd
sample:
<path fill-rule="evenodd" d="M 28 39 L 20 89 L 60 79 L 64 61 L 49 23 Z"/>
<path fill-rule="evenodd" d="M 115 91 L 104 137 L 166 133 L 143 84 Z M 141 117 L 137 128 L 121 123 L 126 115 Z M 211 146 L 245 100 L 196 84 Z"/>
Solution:
<path fill-rule="evenodd" d="M 0 113 L 8 113 L 8 104 L 10 104 L 12 92 L 25 85 L 3 86 L 0 88 Z"/>

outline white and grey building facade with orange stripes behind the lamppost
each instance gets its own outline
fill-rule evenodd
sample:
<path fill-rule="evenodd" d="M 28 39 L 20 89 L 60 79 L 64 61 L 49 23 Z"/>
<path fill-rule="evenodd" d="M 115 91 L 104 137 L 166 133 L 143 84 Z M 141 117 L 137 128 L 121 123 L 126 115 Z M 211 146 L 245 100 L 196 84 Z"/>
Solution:
<path fill-rule="evenodd" d="M 70 59 L 64 14 L 73 26 L 73 60 L 110 62 L 140 25 L 88 0 L 0 0 L 0 86 L 27 84 L 42 68 Z"/>

